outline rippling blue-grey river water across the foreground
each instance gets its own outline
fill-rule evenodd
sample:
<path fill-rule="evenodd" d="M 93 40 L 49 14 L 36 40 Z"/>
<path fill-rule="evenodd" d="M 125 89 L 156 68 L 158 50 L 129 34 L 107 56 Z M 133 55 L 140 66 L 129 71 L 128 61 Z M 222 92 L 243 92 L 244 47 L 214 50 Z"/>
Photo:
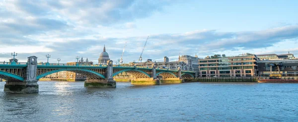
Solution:
<path fill-rule="evenodd" d="M 39 82 L 37 94 L 4 93 L 0 122 L 295 122 L 298 84 L 182 83 L 84 88 Z"/>

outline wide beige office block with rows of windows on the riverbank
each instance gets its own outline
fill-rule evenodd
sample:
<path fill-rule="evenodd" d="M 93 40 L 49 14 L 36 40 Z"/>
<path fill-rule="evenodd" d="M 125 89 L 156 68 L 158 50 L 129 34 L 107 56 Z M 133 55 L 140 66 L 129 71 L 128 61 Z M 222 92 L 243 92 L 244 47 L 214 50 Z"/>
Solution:
<path fill-rule="evenodd" d="M 253 54 L 199 60 L 201 77 L 250 77 L 258 73 L 257 57 Z"/>

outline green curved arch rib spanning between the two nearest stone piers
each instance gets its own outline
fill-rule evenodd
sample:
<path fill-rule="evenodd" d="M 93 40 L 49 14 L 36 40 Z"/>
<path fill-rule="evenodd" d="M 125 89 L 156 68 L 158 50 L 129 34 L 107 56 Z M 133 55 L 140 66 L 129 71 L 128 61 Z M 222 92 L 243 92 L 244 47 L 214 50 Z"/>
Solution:
<path fill-rule="evenodd" d="M 104 79 L 105 76 L 98 73 L 98 72 L 95 72 L 95 71 L 92 71 L 92 70 L 88 70 L 88 69 L 77 69 L 77 68 L 63 68 L 63 69 L 56 69 L 56 70 L 52 70 L 52 71 L 49 71 L 49 72 L 46 72 L 46 73 L 43 73 L 43 74 L 40 74 L 36 77 L 36 79 L 40 79 L 44 76 L 47 76 L 49 74 L 52 74 L 52 73 L 56 73 L 56 72 L 59 72 L 59 71 L 72 71 L 72 72 L 75 72 L 75 73 L 79 73 L 79 74 L 82 74 L 82 75 L 85 75 L 87 78 L 90 78 L 90 79 Z"/>

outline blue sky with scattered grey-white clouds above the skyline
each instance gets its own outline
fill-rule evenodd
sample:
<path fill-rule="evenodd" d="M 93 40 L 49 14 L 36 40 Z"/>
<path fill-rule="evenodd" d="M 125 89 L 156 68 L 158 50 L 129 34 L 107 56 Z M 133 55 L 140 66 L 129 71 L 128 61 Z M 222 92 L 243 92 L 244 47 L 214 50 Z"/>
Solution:
<path fill-rule="evenodd" d="M 298 56 L 298 0 L 0 0 L 0 61 Z"/>

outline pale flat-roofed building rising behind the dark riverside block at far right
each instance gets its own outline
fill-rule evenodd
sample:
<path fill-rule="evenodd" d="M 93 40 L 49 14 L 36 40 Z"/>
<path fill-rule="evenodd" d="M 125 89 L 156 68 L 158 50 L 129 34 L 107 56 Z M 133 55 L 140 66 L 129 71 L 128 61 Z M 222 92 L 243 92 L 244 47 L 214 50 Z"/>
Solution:
<path fill-rule="evenodd" d="M 285 59 L 295 59 L 293 54 L 262 54 L 256 55 L 258 60 L 285 60 Z"/>

